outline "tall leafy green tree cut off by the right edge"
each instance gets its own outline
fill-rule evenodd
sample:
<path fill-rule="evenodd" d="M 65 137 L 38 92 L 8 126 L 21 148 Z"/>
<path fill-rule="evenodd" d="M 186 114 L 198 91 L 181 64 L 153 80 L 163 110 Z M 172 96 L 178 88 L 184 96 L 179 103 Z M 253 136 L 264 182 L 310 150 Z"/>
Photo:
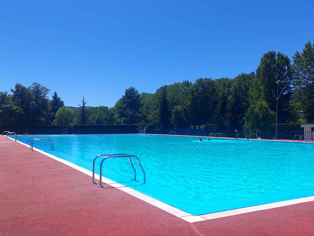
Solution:
<path fill-rule="evenodd" d="M 307 42 L 302 53 L 293 56 L 295 94 L 299 111 L 304 112 L 308 122 L 314 122 L 314 43 Z"/>

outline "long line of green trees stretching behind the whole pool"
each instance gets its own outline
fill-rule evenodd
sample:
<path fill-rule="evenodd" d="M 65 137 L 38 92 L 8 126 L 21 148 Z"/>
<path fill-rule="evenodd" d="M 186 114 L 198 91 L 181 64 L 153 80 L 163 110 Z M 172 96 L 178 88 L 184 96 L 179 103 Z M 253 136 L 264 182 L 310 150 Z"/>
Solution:
<path fill-rule="evenodd" d="M 255 72 L 235 78 L 199 78 L 164 85 L 155 93 L 127 88 L 116 104 L 88 107 L 83 97 L 77 110 L 64 106 L 54 92 L 34 82 L 16 84 L 12 94 L 0 92 L 0 126 L 55 124 L 138 124 L 157 128 L 269 129 L 274 125 L 277 83 L 279 123 L 314 122 L 314 44 L 305 44 L 290 58 L 280 52 L 263 55 Z M 277 82 L 278 81 L 278 82 Z M 276 94 L 277 95 L 277 94 Z"/>

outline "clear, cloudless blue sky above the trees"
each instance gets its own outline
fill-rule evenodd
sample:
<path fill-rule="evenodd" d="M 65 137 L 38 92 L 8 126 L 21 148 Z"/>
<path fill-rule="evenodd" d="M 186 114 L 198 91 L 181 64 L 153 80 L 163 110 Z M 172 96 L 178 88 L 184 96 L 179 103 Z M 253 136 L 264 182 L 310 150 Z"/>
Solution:
<path fill-rule="evenodd" d="M 0 91 L 33 81 L 68 106 L 113 106 L 127 87 L 155 92 L 255 71 L 314 41 L 313 1 L 3 1 Z"/>

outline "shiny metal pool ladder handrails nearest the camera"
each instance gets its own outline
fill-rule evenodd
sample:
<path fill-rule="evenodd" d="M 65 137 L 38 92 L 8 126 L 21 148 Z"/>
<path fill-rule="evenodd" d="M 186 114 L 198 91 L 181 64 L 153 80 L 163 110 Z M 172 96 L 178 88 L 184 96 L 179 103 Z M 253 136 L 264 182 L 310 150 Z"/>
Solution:
<path fill-rule="evenodd" d="M 132 169 L 134 171 L 134 180 L 136 182 L 140 182 L 140 181 L 137 181 L 136 179 L 136 170 L 134 168 L 134 165 L 133 165 L 133 162 L 131 160 L 130 157 L 135 157 L 137 162 L 138 162 L 138 165 L 140 166 L 142 172 L 143 172 L 143 182 L 140 182 L 140 183 L 146 183 L 146 174 L 145 174 L 145 171 L 143 169 L 143 166 L 141 164 L 141 162 L 139 161 L 138 157 L 135 156 L 135 155 L 127 155 L 125 153 L 115 153 L 115 154 L 100 154 L 100 155 L 97 155 L 93 161 L 93 177 L 92 177 L 92 183 L 96 183 L 95 182 L 95 162 L 96 162 L 96 159 L 100 156 L 105 156 L 105 158 L 102 159 L 102 161 L 100 162 L 100 173 L 99 173 L 99 186 L 100 187 L 103 187 L 102 185 L 102 165 L 104 163 L 105 160 L 109 159 L 109 158 L 127 158 L 132 166 Z"/>

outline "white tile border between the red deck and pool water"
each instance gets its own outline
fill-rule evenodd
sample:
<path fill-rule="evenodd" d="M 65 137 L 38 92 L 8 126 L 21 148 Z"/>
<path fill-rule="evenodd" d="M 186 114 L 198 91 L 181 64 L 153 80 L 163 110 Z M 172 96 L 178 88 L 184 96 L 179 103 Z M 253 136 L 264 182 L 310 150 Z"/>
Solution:
<path fill-rule="evenodd" d="M 5 137 L 5 136 L 3 136 Z M 12 139 L 13 141 L 15 141 L 14 138 L 8 137 L 10 139 Z M 20 143 L 26 147 L 30 148 L 30 145 L 20 142 L 20 141 L 16 141 L 17 143 Z M 49 153 L 46 153 L 40 149 L 34 148 L 35 151 L 44 154 L 54 160 L 57 160 L 67 166 L 72 167 L 75 170 L 78 170 L 90 177 L 92 177 L 92 171 L 88 171 L 86 169 L 84 169 L 83 167 L 77 166 L 69 161 L 63 160 L 59 157 L 56 157 L 54 155 L 51 155 Z M 99 180 L 99 175 L 95 174 L 95 178 L 97 180 Z M 233 210 L 227 210 L 227 211 L 219 211 L 219 212 L 214 212 L 214 213 L 209 213 L 209 214 L 204 214 L 204 215 L 198 215 L 198 216 L 194 216 L 190 213 L 187 213 L 185 211 L 182 211 L 176 207 L 173 207 L 171 205 L 168 205 L 160 200 L 154 199 L 152 197 L 149 197 L 146 194 L 142 194 L 132 188 L 126 187 L 123 184 L 120 183 L 116 183 L 115 181 L 108 179 L 106 177 L 102 177 L 103 182 L 114 187 L 117 188 L 127 194 L 130 194 L 138 199 L 141 199 L 151 205 L 154 205 L 158 208 L 160 208 L 161 210 L 164 210 L 174 216 L 177 216 L 179 218 L 181 218 L 182 220 L 185 220 L 187 222 L 193 223 L 193 222 L 199 222 L 199 221 L 205 221 L 205 220 L 212 220 L 212 219 L 217 219 L 217 218 L 222 218 L 222 217 L 226 217 L 226 216 L 234 216 L 234 215 L 239 215 L 239 214 L 243 214 L 243 213 L 249 213 L 249 212 L 253 212 L 253 211 L 261 211 L 261 210 L 267 210 L 267 209 L 272 209 L 272 208 L 277 208 L 277 207 L 281 207 L 281 206 L 288 206 L 288 205 L 294 205 L 294 204 L 298 204 L 298 203 L 304 203 L 304 202 L 310 202 L 310 201 L 314 201 L 314 196 L 310 196 L 310 197 L 304 197 L 304 198 L 297 198 L 297 199 L 291 199 L 291 200 L 285 200 L 285 201 L 279 201 L 279 202 L 273 202 L 273 203 L 267 203 L 267 204 L 262 204 L 262 205 L 256 205 L 256 206 L 249 206 L 249 207 L 243 207 L 243 208 L 238 208 L 238 209 L 233 209 Z"/>

